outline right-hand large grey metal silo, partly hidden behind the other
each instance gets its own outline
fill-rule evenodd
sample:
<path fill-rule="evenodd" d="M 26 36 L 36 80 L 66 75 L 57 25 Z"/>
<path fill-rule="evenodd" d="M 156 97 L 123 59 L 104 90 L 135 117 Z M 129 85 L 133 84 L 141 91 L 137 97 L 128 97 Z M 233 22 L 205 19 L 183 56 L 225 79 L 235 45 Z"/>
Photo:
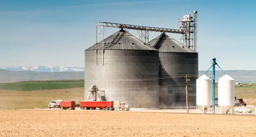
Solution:
<path fill-rule="evenodd" d="M 185 107 L 185 74 L 188 82 L 189 106 L 196 105 L 198 53 L 162 33 L 148 43 L 159 50 L 159 107 Z"/>

